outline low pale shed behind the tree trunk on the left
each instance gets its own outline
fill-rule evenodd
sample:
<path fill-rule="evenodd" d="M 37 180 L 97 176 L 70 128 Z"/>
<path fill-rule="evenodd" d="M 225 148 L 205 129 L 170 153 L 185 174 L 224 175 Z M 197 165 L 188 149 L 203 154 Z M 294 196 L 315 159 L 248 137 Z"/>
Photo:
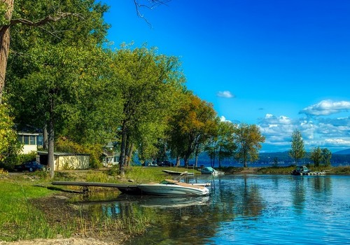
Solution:
<path fill-rule="evenodd" d="M 48 165 L 48 153 L 38 151 L 39 162 L 42 165 Z M 88 169 L 90 167 L 90 155 L 78 153 L 54 153 L 55 171 Z"/>

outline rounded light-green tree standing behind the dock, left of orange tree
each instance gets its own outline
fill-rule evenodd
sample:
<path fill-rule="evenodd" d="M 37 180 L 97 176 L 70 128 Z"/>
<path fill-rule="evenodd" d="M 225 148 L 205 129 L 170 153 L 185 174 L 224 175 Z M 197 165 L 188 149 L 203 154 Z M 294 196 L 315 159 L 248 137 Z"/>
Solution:
<path fill-rule="evenodd" d="M 125 174 L 128 142 L 150 134 L 140 134 L 147 126 L 155 127 L 172 109 L 172 92 L 182 87 L 183 75 L 176 57 L 158 55 L 155 48 L 120 48 L 113 58 L 111 80 L 120 90 L 123 118 L 120 121 L 120 174 Z M 146 126 L 146 127 L 145 127 Z M 142 128 L 144 127 L 144 128 Z M 149 141 L 148 141 L 149 142 Z M 146 143 L 146 141 L 144 142 Z"/>

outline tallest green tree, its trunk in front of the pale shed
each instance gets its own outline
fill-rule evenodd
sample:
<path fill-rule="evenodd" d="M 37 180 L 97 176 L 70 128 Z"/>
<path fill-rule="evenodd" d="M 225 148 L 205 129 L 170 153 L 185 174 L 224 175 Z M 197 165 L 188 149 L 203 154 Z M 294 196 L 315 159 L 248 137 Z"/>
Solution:
<path fill-rule="evenodd" d="M 71 12 L 69 12 L 69 10 L 71 10 Z M 78 47 L 83 46 L 85 48 L 83 52 L 86 54 L 88 48 L 93 49 L 98 45 L 102 45 L 105 41 L 106 29 L 108 28 L 102 19 L 102 15 L 106 10 L 107 8 L 105 5 L 94 3 L 92 0 L 62 1 L 62 3 L 61 0 L 40 0 L 35 2 L 16 0 L 15 8 L 13 8 L 13 15 L 8 22 L 8 26 L 5 25 L 1 27 L 2 29 L 9 29 L 11 27 L 11 40 L 13 40 L 13 42 L 11 43 L 11 55 L 8 57 L 7 63 L 7 76 L 9 78 L 8 80 L 10 80 L 7 87 L 9 97 L 12 98 L 10 99 L 10 103 L 15 107 L 17 112 L 16 121 L 21 123 L 22 119 L 26 120 L 26 123 L 30 123 L 29 121 L 33 119 L 32 122 L 35 121 L 35 125 L 41 125 L 41 127 L 48 126 L 50 142 L 48 146 L 48 165 L 51 166 L 52 174 L 55 127 L 56 129 L 57 126 L 62 127 L 64 125 L 63 122 L 66 121 L 59 120 L 62 124 L 55 124 L 55 121 L 57 122 L 55 118 L 59 115 L 59 113 L 57 113 L 57 104 L 70 103 L 64 102 L 64 100 L 62 101 L 62 97 L 60 97 L 66 92 L 67 83 L 64 85 L 64 81 L 67 82 L 67 80 L 69 80 L 68 83 L 73 85 L 80 79 L 80 75 L 84 76 L 84 74 L 87 73 L 87 67 L 84 66 L 86 63 L 78 61 L 78 63 L 76 63 L 78 66 L 73 64 L 73 62 L 76 62 L 77 59 L 81 57 L 79 53 L 73 57 L 72 60 L 74 61 L 70 64 L 69 55 L 72 54 L 71 51 L 74 48 L 79 50 Z M 67 18 L 69 18 L 69 20 Z M 61 21 L 58 22 L 58 20 Z M 18 23 L 22 25 L 16 25 Z M 3 49 L 6 50 L 6 47 Z M 64 52 L 67 50 L 66 57 L 64 57 Z M 80 50 L 82 49 L 80 48 Z M 45 55 L 54 56 L 45 57 Z M 55 57 L 55 55 L 57 55 L 57 57 Z M 90 55 L 94 55 L 93 52 L 91 52 Z M 70 65 L 72 66 L 69 67 Z M 75 70 L 71 71 L 70 69 L 73 66 Z M 92 66 L 90 66 L 90 68 L 91 67 Z M 3 67 L 1 67 L 1 69 L 2 68 Z M 97 76 L 96 71 L 95 75 Z M 65 78 L 63 78 L 64 76 Z M 62 84 L 59 84 L 59 79 L 61 78 Z M 37 80 L 37 82 L 35 83 L 33 80 Z M 27 84 L 22 86 L 22 83 L 26 81 L 31 85 L 35 83 L 35 85 L 33 87 L 27 87 Z M 38 84 L 39 82 L 42 84 Z M 45 85 L 48 85 L 48 87 L 45 87 Z M 24 87 L 28 88 L 27 91 L 22 90 Z M 30 94 L 29 91 L 33 92 L 34 88 L 36 91 Z M 19 91 L 22 91 L 22 95 L 27 94 L 27 97 L 21 97 L 20 93 L 18 93 Z M 71 92 L 74 91 L 76 90 L 71 90 Z M 33 98 L 34 94 L 42 98 L 43 94 L 48 94 L 47 92 L 51 94 L 49 98 L 43 99 L 41 104 L 35 102 L 35 98 Z M 26 101 L 18 100 L 18 97 L 26 98 Z M 69 98 L 73 97 L 74 96 Z M 49 111 L 47 110 L 48 106 L 51 107 Z M 31 115 L 31 109 L 33 109 L 32 113 L 34 115 Z M 41 116 L 36 117 L 35 113 L 37 113 L 37 115 L 40 114 L 38 113 L 39 109 L 43 109 L 47 114 L 43 114 L 43 111 L 41 111 Z M 64 109 L 64 111 L 66 111 L 66 109 Z M 63 116 L 63 114 L 61 114 L 61 116 L 72 118 L 71 116 L 76 115 L 76 113 L 65 113 L 65 116 Z M 44 119 L 45 116 L 47 117 Z"/>

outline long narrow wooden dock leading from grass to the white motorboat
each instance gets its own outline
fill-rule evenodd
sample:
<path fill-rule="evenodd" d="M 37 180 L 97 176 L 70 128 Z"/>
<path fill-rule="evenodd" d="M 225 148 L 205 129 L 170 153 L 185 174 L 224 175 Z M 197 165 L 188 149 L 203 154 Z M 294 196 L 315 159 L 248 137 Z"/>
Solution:
<path fill-rule="evenodd" d="M 109 187 L 117 188 L 122 193 L 139 194 L 141 190 L 135 184 L 117 184 L 117 183 L 102 183 L 102 182 L 77 182 L 77 181 L 53 181 L 52 185 L 55 186 L 81 186 L 83 192 L 87 192 L 90 187 Z"/>

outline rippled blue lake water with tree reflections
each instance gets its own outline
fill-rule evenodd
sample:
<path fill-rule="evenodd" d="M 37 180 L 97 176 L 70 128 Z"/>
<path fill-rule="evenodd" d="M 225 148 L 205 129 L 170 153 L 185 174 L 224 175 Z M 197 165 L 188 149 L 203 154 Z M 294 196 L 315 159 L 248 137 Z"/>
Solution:
<path fill-rule="evenodd" d="M 223 175 L 209 197 L 120 195 L 104 215 L 153 216 L 130 244 L 350 244 L 350 176 Z M 126 211 L 127 210 L 127 211 Z"/>

